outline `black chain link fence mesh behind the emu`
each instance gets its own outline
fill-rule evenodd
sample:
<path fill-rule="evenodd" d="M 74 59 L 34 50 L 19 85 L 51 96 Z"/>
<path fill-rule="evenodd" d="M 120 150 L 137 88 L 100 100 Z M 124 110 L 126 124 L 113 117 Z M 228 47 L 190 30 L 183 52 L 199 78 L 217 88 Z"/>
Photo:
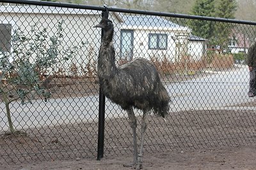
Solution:
<path fill-rule="evenodd" d="M 102 138 L 101 32 L 93 26 L 106 8 L 2 2 L 1 164 L 96 157 Z M 151 60 L 172 98 L 168 117 L 150 115 L 145 152 L 255 145 L 246 53 L 256 38 L 256 23 L 108 11 L 115 25 L 116 65 L 137 57 Z M 104 155 L 132 153 L 125 111 L 108 99 L 104 106 Z M 136 115 L 140 127 L 140 111 Z"/>

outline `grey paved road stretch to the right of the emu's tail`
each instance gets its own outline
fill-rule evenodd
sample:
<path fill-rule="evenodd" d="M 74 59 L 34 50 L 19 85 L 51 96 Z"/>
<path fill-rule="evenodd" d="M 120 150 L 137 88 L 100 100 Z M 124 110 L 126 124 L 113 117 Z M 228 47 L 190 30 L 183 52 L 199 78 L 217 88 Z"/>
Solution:
<path fill-rule="evenodd" d="M 246 66 L 212 72 L 209 76 L 169 85 L 172 110 L 216 110 L 255 99 L 247 96 L 249 73 Z M 241 108 L 242 109 L 242 108 Z"/>

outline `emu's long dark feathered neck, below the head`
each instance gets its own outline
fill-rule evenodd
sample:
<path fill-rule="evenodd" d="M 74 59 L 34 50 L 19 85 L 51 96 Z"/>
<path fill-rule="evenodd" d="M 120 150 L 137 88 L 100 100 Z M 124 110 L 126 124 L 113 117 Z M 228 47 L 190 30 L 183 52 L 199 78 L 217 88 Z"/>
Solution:
<path fill-rule="evenodd" d="M 115 50 L 112 43 L 113 30 L 104 32 L 101 39 L 100 53 L 98 59 L 98 76 L 100 79 L 106 79 L 115 76 Z"/>

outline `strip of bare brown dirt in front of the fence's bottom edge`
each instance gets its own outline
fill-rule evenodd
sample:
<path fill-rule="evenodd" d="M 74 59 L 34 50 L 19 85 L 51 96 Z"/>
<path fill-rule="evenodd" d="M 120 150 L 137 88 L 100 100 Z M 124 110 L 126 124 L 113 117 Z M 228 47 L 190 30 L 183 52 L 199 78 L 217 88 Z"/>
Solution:
<path fill-rule="evenodd" d="M 130 155 L 108 157 L 102 160 L 58 160 L 20 166 L 4 166 L 3 169 L 120 169 Z M 214 150 L 193 150 L 190 152 L 146 153 L 143 169 L 256 169 L 256 147 L 221 147 Z"/>

